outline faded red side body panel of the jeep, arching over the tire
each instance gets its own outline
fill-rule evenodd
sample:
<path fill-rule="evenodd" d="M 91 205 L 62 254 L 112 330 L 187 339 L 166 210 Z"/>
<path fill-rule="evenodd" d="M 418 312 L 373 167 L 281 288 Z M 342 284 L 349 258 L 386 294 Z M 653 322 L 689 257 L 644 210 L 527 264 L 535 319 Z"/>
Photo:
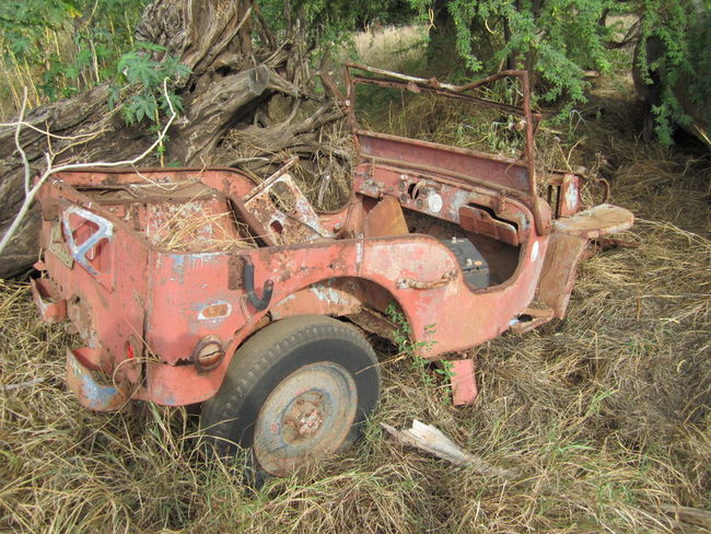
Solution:
<path fill-rule="evenodd" d="M 343 291 L 342 286 L 328 281 L 319 282 L 327 269 L 328 280 L 360 278 L 383 288 L 400 304 L 412 325 L 413 341 L 424 341 L 422 356 L 436 358 L 483 343 L 508 327 L 509 320 L 533 298 L 537 271 L 543 265 L 543 256 L 538 254 L 545 252 L 544 247 L 545 244 L 538 244 L 536 254 L 528 252 L 528 262 L 511 285 L 480 293 L 471 292 L 461 276 L 430 289 L 403 283 L 404 280 L 440 280 L 457 270 L 452 253 L 429 236 L 342 240 L 279 249 L 258 248 L 245 254 L 254 264 L 256 287 L 269 279 L 273 281 L 275 318 L 300 311 L 351 314 L 361 302 L 369 300 L 368 294 Z M 147 364 L 148 387 L 137 393 L 138 398 L 162 404 L 208 398 L 221 383 L 234 350 L 268 312 L 255 310 L 244 299 L 244 292 L 229 294 L 226 256 L 214 255 L 209 260 L 203 257 L 200 263 L 198 257 L 185 255 L 183 262 L 165 255 L 156 263 L 160 269 L 152 283 L 148 345 L 170 364 Z M 218 297 L 219 291 L 224 293 Z M 202 305 L 214 300 L 230 303 L 233 313 L 218 327 L 198 325 L 196 302 Z M 487 313 L 481 313 L 482 310 Z M 198 375 L 182 359 L 207 333 L 215 334 L 228 345 L 229 356 L 214 370 Z"/>

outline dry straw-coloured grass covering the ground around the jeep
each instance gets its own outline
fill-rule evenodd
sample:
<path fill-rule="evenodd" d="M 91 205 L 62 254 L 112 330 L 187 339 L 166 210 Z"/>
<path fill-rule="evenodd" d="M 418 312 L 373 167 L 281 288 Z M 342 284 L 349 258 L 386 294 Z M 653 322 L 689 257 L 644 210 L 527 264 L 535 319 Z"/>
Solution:
<path fill-rule="evenodd" d="M 708 156 L 637 141 L 630 103 L 584 131 L 633 209 L 633 249 L 586 262 L 564 322 L 478 349 L 480 396 L 453 408 L 407 358 L 350 454 L 259 491 L 206 461 L 183 409 L 101 415 L 67 392 L 77 339 L 0 282 L 0 530 L 8 532 L 657 533 L 665 503 L 711 508 Z M 526 479 L 486 479 L 404 450 L 378 421 L 431 422 Z M 706 531 L 708 532 L 708 531 Z"/>

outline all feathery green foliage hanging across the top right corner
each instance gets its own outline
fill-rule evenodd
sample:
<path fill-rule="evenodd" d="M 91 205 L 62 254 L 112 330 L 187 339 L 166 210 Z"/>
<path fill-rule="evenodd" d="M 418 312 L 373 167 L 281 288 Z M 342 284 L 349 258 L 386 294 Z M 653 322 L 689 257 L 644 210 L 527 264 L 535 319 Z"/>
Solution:
<path fill-rule="evenodd" d="M 560 106 L 563 119 L 585 102 L 585 71 L 615 68 L 623 25 L 639 19 L 636 68 L 655 93 L 657 137 L 672 142 L 675 124 L 690 109 L 711 124 L 711 15 L 709 0 L 410 0 L 426 19 L 451 19 L 457 56 L 466 70 L 528 69 L 537 97 Z M 615 15 L 618 15 L 617 19 Z M 617 22 L 610 22 L 617 20 Z M 438 31 L 450 31 L 443 26 Z M 651 50 L 648 54 L 648 49 Z"/>

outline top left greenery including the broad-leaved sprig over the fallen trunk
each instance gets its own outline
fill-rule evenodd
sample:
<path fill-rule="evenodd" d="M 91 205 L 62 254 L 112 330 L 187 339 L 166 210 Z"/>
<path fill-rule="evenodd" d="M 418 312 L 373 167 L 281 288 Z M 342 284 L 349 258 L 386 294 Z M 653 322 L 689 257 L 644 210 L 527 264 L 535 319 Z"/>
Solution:
<path fill-rule="evenodd" d="M 10 0 L 0 3 L 2 61 L 26 72 L 43 100 L 70 96 L 112 80 L 109 106 L 123 101 L 126 123 L 158 123 L 170 104 L 182 111 L 168 91 L 189 69 L 164 48 L 135 43 L 133 27 L 147 0 Z M 39 103 L 39 102 L 36 102 Z"/>

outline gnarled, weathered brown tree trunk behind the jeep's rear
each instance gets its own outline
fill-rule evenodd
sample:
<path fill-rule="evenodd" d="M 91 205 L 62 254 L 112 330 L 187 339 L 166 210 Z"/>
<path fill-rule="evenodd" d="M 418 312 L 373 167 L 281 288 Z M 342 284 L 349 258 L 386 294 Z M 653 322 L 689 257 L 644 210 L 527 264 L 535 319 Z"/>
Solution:
<path fill-rule="evenodd" d="M 176 90 L 184 113 L 168 131 L 166 159 L 171 163 L 205 166 L 218 160 L 229 161 L 220 151 L 225 135 L 233 129 L 261 139 L 260 147 L 270 156 L 284 150 L 316 150 L 314 131 L 341 115 L 337 105 L 320 97 L 314 116 L 298 120 L 304 115 L 296 113 L 301 104 L 316 100 L 310 93 L 313 77 L 304 67 L 307 50 L 303 39 L 293 35 L 277 43 L 252 0 L 154 0 L 136 34 L 138 40 L 165 47 L 165 51 L 154 53 L 155 59 L 170 55 L 191 69 Z M 257 40 L 254 34 L 259 35 Z M 288 96 L 294 113 L 279 124 L 263 124 L 259 117 L 269 115 L 269 103 L 276 95 Z M 151 134 L 145 125 L 128 127 L 118 114 L 110 114 L 107 96 L 108 85 L 104 84 L 70 100 L 43 105 L 26 120 L 61 136 L 103 130 L 68 150 L 60 162 L 130 159 L 150 146 Z M 13 137 L 14 129 L 0 130 L 0 234 L 12 223 L 24 198 L 24 170 Z M 69 143 L 53 140 L 51 149 L 57 153 Z M 46 136 L 24 128 L 21 144 L 33 170 L 42 169 L 49 150 Z M 5 248 L 0 277 L 22 272 L 37 259 L 38 232 L 35 210 Z"/>

